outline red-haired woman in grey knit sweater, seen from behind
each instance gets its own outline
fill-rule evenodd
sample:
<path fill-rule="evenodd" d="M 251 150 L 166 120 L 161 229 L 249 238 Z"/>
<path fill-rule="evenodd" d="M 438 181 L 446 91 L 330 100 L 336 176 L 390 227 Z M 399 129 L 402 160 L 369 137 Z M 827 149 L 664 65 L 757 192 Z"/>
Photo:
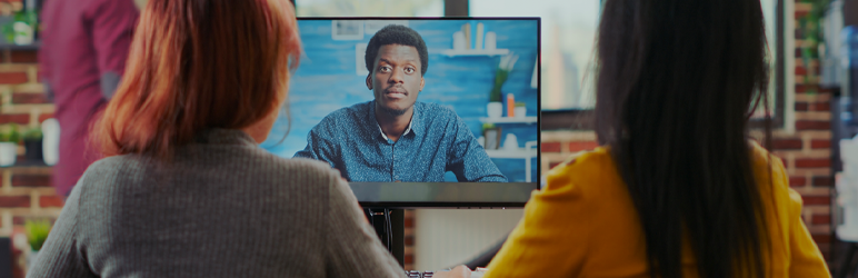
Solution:
<path fill-rule="evenodd" d="M 287 0 L 150 0 L 29 277 L 405 277 L 329 166 L 259 147 L 301 42 Z"/>

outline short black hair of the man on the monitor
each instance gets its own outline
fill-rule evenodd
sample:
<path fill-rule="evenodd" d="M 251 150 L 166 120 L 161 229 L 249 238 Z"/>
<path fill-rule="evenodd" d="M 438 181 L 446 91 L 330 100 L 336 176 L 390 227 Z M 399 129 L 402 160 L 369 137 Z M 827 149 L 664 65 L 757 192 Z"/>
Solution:
<path fill-rule="evenodd" d="M 378 49 L 381 46 L 387 44 L 401 44 L 415 47 L 417 53 L 420 54 L 420 76 L 426 75 L 426 69 L 429 68 L 429 51 L 426 49 L 426 42 L 417 31 L 405 26 L 386 26 L 378 30 L 372 39 L 369 39 L 367 44 L 367 53 L 363 59 L 367 61 L 367 70 L 372 72 L 372 67 L 376 64 L 376 57 L 378 56 Z"/>

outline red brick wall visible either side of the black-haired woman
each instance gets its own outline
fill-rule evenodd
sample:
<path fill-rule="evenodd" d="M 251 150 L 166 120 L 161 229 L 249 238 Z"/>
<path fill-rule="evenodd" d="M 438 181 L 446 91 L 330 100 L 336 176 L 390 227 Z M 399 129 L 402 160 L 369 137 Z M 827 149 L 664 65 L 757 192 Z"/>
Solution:
<path fill-rule="evenodd" d="M 795 17 L 802 16 L 810 10 L 807 3 L 796 3 Z M 798 26 L 796 23 L 795 26 Z M 802 41 L 798 32 L 796 46 L 801 46 Z M 794 53 L 792 51 L 789 52 Z M 795 75 L 795 83 L 787 85 L 795 87 L 795 102 L 787 103 L 786 109 L 795 111 L 795 132 L 788 133 L 784 130 L 772 132 L 774 155 L 784 159 L 784 165 L 789 175 L 789 185 L 796 191 L 801 193 L 804 199 L 802 218 L 819 245 L 822 255 L 830 261 L 829 250 L 831 244 L 831 217 L 830 217 L 830 190 L 834 187 L 831 172 L 831 130 L 830 130 L 830 106 L 831 92 L 817 87 L 817 80 L 810 80 L 805 83 L 807 69 L 802 64 L 800 51 L 796 49 L 794 57 L 796 68 L 787 70 L 787 73 Z M 797 59 L 798 58 L 798 59 Z M 819 72 L 818 61 L 814 60 L 810 66 Z M 815 88 L 815 93 L 809 93 L 809 89 Z M 758 137 L 758 136 L 755 136 Z M 596 147 L 596 135 L 592 131 L 543 131 L 542 132 L 542 161 L 541 169 L 547 171 L 557 163 L 563 161 L 569 155 L 579 150 L 592 149 Z"/>

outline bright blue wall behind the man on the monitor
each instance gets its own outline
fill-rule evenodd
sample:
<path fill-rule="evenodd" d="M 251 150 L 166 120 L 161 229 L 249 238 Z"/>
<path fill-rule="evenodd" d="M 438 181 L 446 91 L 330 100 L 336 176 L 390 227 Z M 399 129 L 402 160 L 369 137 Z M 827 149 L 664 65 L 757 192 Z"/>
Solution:
<path fill-rule="evenodd" d="M 480 117 L 487 117 L 486 105 L 489 91 L 495 82 L 495 72 L 499 56 L 456 56 L 442 52 L 452 48 L 452 38 L 465 23 L 470 23 L 476 33 L 478 22 L 485 24 L 485 31 L 497 33 L 497 48 L 509 49 L 518 54 L 509 79 L 503 85 L 506 95 L 515 95 L 516 101 L 527 105 L 527 116 L 537 116 L 538 91 L 531 88 L 531 79 L 538 56 L 539 30 L 535 20 L 408 20 L 407 24 L 416 30 L 429 49 L 429 68 L 423 75 L 426 87 L 417 101 L 435 102 L 451 107 L 465 120 L 479 138 L 482 135 Z M 352 22 L 362 23 L 362 22 Z M 365 80 L 366 68 L 359 71 L 356 61 L 363 59 L 362 51 L 356 54 L 356 46 L 366 46 L 372 37 L 370 28 L 377 22 L 367 23 L 362 38 L 351 33 L 347 40 L 335 40 L 330 20 L 300 20 L 299 29 L 306 54 L 291 78 L 288 112 L 281 112 L 268 140 L 262 148 L 286 158 L 307 146 L 307 135 L 328 113 L 355 103 L 372 100 Z M 348 29 L 347 31 L 353 31 Z M 471 41 L 476 41 L 471 39 Z M 473 43 L 473 42 L 472 42 Z M 360 63 L 362 64 L 362 63 Z M 362 67 L 362 66 L 361 66 Z M 359 73 L 360 72 L 360 73 Z M 505 103 L 506 116 L 506 103 Z M 291 125 L 287 119 L 291 117 Z M 501 128 L 501 139 L 507 133 L 518 138 L 519 148 L 525 142 L 537 140 L 537 123 L 497 123 Z M 288 130 L 288 136 L 283 138 Z M 282 142 L 281 142 L 282 140 Z M 523 159 L 492 159 L 510 181 L 525 181 Z M 531 181 L 538 179 L 538 160 L 531 159 Z M 456 181 L 448 172 L 448 181 Z"/>

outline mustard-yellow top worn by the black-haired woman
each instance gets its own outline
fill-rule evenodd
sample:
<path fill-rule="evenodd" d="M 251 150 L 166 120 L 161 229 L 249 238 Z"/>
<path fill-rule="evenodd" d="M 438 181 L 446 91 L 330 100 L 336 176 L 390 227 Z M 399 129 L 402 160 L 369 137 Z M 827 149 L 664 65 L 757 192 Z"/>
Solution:
<path fill-rule="evenodd" d="M 756 142 L 752 148 L 771 240 L 772 254 L 766 255 L 769 276 L 830 277 L 801 220 L 801 196 L 789 188 L 781 160 Z M 531 193 L 523 218 L 485 278 L 649 277 L 638 212 L 607 148 L 573 155 L 547 178 L 546 187 Z M 682 274 L 698 277 L 687 238 Z"/>

